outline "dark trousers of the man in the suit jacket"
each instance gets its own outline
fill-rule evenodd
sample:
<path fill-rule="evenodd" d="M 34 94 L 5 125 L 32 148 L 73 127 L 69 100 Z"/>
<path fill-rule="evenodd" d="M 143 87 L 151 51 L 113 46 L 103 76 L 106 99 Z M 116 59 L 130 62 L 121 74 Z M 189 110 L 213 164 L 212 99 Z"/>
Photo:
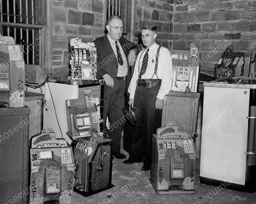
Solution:
<path fill-rule="evenodd" d="M 111 93 L 103 101 L 103 133 L 106 134 L 106 120 L 107 116 L 110 121 L 109 139 L 112 140 L 112 152 L 120 152 L 121 146 L 121 132 L 124 124 L 124 90 L 125 80 L 114 80 L 114 87 Z"/>

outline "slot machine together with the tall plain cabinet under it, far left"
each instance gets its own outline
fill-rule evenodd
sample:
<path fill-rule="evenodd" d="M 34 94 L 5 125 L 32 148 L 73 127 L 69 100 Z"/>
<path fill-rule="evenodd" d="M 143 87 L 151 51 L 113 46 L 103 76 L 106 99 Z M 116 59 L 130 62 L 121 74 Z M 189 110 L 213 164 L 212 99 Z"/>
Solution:
<path fill-rule="evenodd" d="M 25 63 L 20 45 L 0 35 L 0 203 L 14 202 L 29 186 L 28 116 Z M 18 198 L 18 197 L 17 197 Z M 28 203 L 28 196 L 16 203 Z"/>

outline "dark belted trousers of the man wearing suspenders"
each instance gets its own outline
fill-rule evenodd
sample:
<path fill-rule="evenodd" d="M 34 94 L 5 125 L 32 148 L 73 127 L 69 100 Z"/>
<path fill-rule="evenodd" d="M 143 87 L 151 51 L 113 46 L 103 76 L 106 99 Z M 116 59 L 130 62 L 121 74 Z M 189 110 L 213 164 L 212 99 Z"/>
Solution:
<path fill-rule="evenodd" d="M 133 107 L 137 108 L 135 130 L 132 135 L 130 158 L 143 165 L 151 165 L 152 134 L 161 127 L 162 110 L 154 109 L 159 87 L 137 87 Z"/>

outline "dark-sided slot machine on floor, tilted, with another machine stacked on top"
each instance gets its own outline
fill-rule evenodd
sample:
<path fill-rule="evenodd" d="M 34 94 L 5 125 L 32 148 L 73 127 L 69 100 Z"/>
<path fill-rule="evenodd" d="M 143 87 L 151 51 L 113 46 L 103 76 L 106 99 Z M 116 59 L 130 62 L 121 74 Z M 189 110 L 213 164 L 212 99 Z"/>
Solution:
<path fill-rule="evenodd" d="M 95 136 L 79 138 L 74 143 L 74 191 L 85 197 L 114 187 L 112 141 Z"/>

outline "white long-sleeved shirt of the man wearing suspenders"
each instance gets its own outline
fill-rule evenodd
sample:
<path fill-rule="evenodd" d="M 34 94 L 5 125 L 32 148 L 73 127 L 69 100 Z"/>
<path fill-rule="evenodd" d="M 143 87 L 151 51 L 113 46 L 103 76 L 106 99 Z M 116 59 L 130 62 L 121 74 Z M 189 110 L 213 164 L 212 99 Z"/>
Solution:
<path fill-rule="evenodd" d="M 161 79 L 161 87 L 158 91 L 157 98 L 163 100 L 165 95 L 169 93 L 172 86 L 172 80 L 173 80 L 173 69 L 172 69 L 172 56 L 170 51 L 165 48 L 161 47 L 159 51 L 159 57 L 158 57 L 158 67 L 157 67 L 157 76 L 154 75 L 155 71 L 155 63 L 156 63 L 156 53 L 157 48 L 159 45 L 156 43 L 153 44 L 148 51 L 148 66 L 146 73 L 141 76 L 141 79 Z M 136 60 L 134 72 L 132 75 L 132 79 L 130 82 L 130 86 L 128 89 L 128 92 L 130 94 L 130 99 L 134 98 L 135 89 L 137 87 L 137 80 L 139 79 L 139 73 L 143 61 L 143 56 L 146 54 L 147 49 L 142 50 Z M 154 76 L 153 76 L 154 75 Z M 153 78 L 152 78 L 153 77 Z"/>

